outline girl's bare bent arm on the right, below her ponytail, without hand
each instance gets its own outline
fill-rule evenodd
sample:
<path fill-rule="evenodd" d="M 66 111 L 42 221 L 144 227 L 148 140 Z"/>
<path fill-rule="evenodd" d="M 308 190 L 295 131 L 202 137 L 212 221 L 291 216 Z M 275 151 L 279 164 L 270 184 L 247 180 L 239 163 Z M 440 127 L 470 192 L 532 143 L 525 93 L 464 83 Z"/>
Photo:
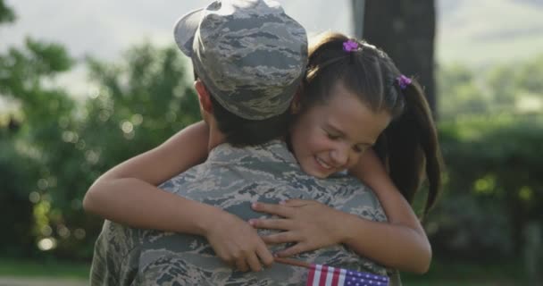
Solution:
<path fill-rule="evenodd" d="M 393 268 L 426 273 L 431 261 L 430 241 L 413 208 L 390 180 L 379 157 L 369 149 L 349 172 L 373 189 L 387 214 L 388 223 L 351 218 L 345 225 L 351 232 L 346 244 L 357 253 Z M 349 223 L 352 223 L 352 229 L 349 229 Z"/>

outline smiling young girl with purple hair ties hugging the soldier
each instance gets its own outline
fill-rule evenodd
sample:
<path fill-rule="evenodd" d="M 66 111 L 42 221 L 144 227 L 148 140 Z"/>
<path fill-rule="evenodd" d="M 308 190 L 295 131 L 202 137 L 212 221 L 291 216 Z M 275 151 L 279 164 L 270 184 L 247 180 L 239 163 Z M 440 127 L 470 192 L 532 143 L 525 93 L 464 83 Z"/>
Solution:
<path fill-rule="evenodd" d="M 374 46 L 330 34 L 310 49 L 300 90 L 292 106 L 296 119 L 287 140 L 301 169 L 319 178 L 348 169 L 374 189 L 388 223 L 358 220 L 343 228 L 340 236 L 330 229 L 342 224 L 338 223 L 341 212 L 299 199 L 281 205 L 255 203 L 255 210 L 282 218 L 249 223 L 283 230 L 263 237 L 268 243 L 294 243 L 278 253 L 282 257 L 345 243 L 382 265 L 426 272 L 430 243 L 409 202 L 426 172 L 430 188 L 425 213 L 434 203 L 440 156 L 422 89 L 403 77 L 388 55 Z M 360 102 L 364 111 L 347 112 Z M 205 124 L 198 122 L 163 145 L 114 167 L 88 190 L 85 209 L 133 227 L 178 231 L 179 197 L 156 186 L 203 162 L 207 139 Z M 144 209 L 149 211 L 144 214 Z"/>

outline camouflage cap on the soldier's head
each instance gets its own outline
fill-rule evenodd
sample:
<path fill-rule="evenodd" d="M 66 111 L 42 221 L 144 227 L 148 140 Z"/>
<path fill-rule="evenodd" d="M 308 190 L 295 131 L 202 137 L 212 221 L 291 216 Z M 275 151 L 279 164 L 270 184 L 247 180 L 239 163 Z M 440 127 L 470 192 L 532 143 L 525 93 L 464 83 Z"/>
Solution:
<path fill-rule="evenodd" d="M 214 1 L 182 16 L 174 37 L 212 96 L 248 120 L 284 113 L 305 72 L 305 29 L 275 1 Z"/>

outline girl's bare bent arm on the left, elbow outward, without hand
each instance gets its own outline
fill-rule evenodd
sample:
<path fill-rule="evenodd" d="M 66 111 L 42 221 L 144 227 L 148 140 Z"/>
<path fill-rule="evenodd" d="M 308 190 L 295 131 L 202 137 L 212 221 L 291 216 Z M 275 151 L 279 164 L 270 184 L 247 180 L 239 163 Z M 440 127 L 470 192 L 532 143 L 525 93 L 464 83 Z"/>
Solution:
<path fill-rule="evenodd" d="M 88 189 L 84 209 L 137 228 L 180 231 L 180 204 L 185 201 L 156 186 L 205 161 L 208 127 L 197 122 L 141 155 L 105 172 Z"/>

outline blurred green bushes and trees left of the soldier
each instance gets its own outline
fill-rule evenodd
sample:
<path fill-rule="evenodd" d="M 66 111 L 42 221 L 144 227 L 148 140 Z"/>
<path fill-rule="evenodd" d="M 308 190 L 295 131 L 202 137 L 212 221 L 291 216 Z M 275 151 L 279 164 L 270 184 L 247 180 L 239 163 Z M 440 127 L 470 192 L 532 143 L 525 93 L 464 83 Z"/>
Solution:
<path fill-rule="evenodd" d="M 95 88 L 82 100 L 54 84 L 73 65 L 62 46 L 27 39 L 0 55 L 0 94 L 20 105 L 4 116 L 0 138 L 0 205 L 11 214 L 0 251 L 91 256 L 101 220 L 81 209 L 90 184 L 199 118 L 179 55 L 143 44 L 121 63 L 89 58 Z"/>

